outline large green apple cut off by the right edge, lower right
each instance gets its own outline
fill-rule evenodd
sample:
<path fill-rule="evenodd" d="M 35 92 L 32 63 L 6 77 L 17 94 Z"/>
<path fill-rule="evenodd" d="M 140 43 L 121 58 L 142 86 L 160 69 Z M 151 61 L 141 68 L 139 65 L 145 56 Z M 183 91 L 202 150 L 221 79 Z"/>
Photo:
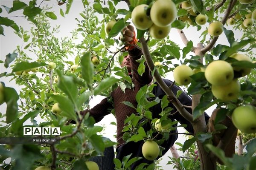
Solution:
<path fill-rule="evenodd" d="M 256 108 L 252 105 L 237 107 L 232 113 L 232 122 L 244 133 L 256 133 Z"/>

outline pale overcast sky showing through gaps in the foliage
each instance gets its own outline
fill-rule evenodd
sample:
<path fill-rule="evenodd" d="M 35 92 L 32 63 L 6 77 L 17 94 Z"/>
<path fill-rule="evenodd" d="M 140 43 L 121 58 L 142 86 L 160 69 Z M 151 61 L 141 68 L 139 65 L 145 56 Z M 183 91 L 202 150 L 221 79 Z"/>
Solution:
<path fill-rule="evenodd" d="M 28 0 L 21 0 L 21 1 L 23 1 L 25 3 L 29 2 Z M 88 0 L 88 1 L 92 2 L 92 0 Z M 40 1 L 38 0 L 37 2 L 38 2 L 38 4 L 40 4 L 41 0 Z M 54 11 L 58 17 L 58 20 L 50 20 L 50 23 L 52 24 L 52 26 L 60 25 L 60 32 L 56 34 L 56 37 L 70 37 L 71 36 L 70 32 L 76 28 L 77 21 L 75 20 L 75 18 L 81 19 L 81 16 L 79 15 L 79 13 L 84 10 L 81 0 L 73 1 L 72 7 L 70 9 L 70 13 L 67 14 L 65 17 L 62 17 L 59 14 L 59 10 L 60 10 L 59 8 L 63 8 L 63 10 L 65 11 L 65 5 L 58 6 L 56 0 L 44 1 L 42 3 L 42 5 L 45 5 L 45 4 L 52 6 L 53 8 L 51 11 Z M 1 7 L 2 7 L 2 5 L 11 7 L 12 0 L 0 0 L 0 5 L 1 5 Z M 103 4 L 102 4 L 102 6 L 107 7 L 107 6 L 104 6 Z M 128 9 L 127 5 L 124 2 L 119 3 L 118 8 Z M 2 7 L 2 9 L 3 9 L 3 12 L 0 14 L 0 16 L 6 17 L 7 16 L 6 11 L 3 7 Z M 23 17 L 12 17 L 12 16 L 22 16 L 20 11 L 15 11 L 15 12 L 9 14 L 8 17 L 10 17 L 10 19 L 12 19 L 12 20 L 15 20 L 17 25 L 22 26 L 24 28 L 24 30 L 28 30 L 28 31 L 30 30 L 32 25 L 28 21 L 24 20 Z M 208 26 L 208 25 L 209 25 L 209 23 L 206 24 L 206 26 Z M 0 60 L 2 60 L 2 61 L 5 60 L 5 56 L 8 53 L 12 53 L 16 49 L 17 45 L 22 44 L 22 40 L 20 40 L 20 38 L 16 34 L 13 33 L 12 28 L 5 27 L 5 26 L 3 26 L 3 27 L 4 27 L 5 36 L 0 35 Z M 225 27 L 227 28 L 227 26 L 225 26 Z M 189 27 L 188 29 L 184 29 L 183 31 L 186 34 L 188 40 L 192 40 L 192 42 L 195 46 L 199 42 L 199 37 L 200 37 L 201 33 L 205 30 L 204 28 L 205 27 L 203 26 L 203 29 L 201 29 L 200 31 L 197 31 L 196 27 Z M 177 34 L 177 30 L 175 28 L 171 29 L 171 32 L 169 35 L 170 35 L 171 40 L 174 41 L 175 43 L 177 43 L 181 49 L 183 47 L 185 47 L 181 38 Z M 235 32 L 235 40 L 241 36 L 242 36 L 242 34 L 240 31 Z M 207 37 L 207 38 L 209 38 L 209 37 Z M 224 34 L 221 34 L 221 36 L 219 37 L 219 39 L 217 41 L 217 44 L 218 43 L 228 45 L 227 38 L 225 37 Z M 0 73 L 5 72 L 5 71 L 10 73 L 12 70 L 10 68 L 6 69 L 3 66 L 3 63 L 0 64 Z M 19 93 L 20 87 L 15 85 L 14 81 L 9 82 L 11 78 L 12 77 L 7 77 L 7 78 L 1 77 L 0 81 L 3 81 L 6 84 L 6 86 L 15 88 L 16 91 Z M 172 81 L 174 80 L 172 77 L 172 74 L 169 74 L 168 77 L 166 77 L 166 78 L 171 79 Z M 94 105 L 98 104 L 99 101 L 103 98 L 104 98 L 103 96 L 99 96 L 99 97 L 92 99 L 90 101 L 90 107 L 93 107 Z M 206 112 L 209 115 L 211 115 L 211 112 L 214 108 L 215 108 L 215 106 L 212 106 L 211 108 L 207 109 Z M 1 105 L 0 112 L 5 113 L 5 110 L 6 110 L 6 104 Z M 105 118 L 101 122 L 97 123 L 97 125 L 105 125 L 104 136 L 110 138 L 112 141 L 116 141 L 116 139 L 113 137 L 113 135 L 116 133 L 116 126 L 110 125 L 110 122 L 115 122 L 115 117 L 112 114 L 105 116 Z M 185 130 L 182 127 L 179 127 L 178 131 L 180 133 L 182 133 Z M 179 135 L 176 142 L 183 143 L 184 141 L 185 141 L 184 136 Z M 177 145 L 175 145 L 175 147 L 178 148 Z M 179 151 L 179 154 L 182 155 L 183 153 Z M 172 167 L 173 167 L 173 165 L 166 165 L 167 162 L 169 161 L 168 156 L 172 157 L 171 152 L 167 152 L 165 154 L 165 156 L 162 157 L 163 160 L 160 161 L 160 165 L 163 167 L 164 170 L 172 170 Z"/>

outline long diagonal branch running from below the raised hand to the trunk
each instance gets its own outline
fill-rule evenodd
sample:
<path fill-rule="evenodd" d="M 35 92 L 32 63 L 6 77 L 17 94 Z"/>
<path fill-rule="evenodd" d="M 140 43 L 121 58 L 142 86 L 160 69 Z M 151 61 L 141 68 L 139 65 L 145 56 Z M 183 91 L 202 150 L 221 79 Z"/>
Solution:
<path fill-rule="evenodd" d="M 151 71 L 153 71 L 154 70 L 154 63 L 153 63 L 153 61 L 151 59 L 151 56 L 150 56 L 150 53 L 148 51 L 148 45 L 145 42 L 145 38 L 144 37 L 140 38 L 140 42 L 141 42 L 141 45 L 142 45 L 142 51 L 143 51 L 145 60 L 147 62 L 147 65 L 148 65 L 149 69 Z M 165 82 L 163 82 L 163 79 L 161 78 L 161 76 L 160 76 L 160 74 L 158 73 L 157 70 L 154 71 L 154 78 L 156 79 L 156 81 L 160 85 L 160 87 L 163 89 L 163 91 L 166 93 L 166 95 L 169 96 L 169 98 L 172 98 L 172 104 L 175 106 L 177 111 L 179 111 L 179 113 L 185 119 L 187 119 L 189 122 L 192 122 L 193 121 L 192 115 L 188 111 L 186 111 L 186 109 L 183 107 L 183 105 L 180 103 L 180 101 L 174 95 L 172 90 L 170 90 L 168 88 L 168 86 L 165 84 Z"/>

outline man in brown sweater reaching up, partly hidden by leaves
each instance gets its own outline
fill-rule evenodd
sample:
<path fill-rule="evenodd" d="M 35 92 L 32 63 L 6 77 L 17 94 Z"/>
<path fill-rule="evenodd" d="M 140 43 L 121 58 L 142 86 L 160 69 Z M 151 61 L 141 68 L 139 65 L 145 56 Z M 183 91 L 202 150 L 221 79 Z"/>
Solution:
<path fill-rule="evenodd" d="M 130 157 L 130 159 L 133 157 L 136 157 L 136 156 L 143 157 L 142 145 L 144 143 L 144 141 L 127 142 L 126 143 L 124 141 L 124 139 L 122 138 L 123 137 L 122 130 L 123 130 L 123 127 L 125 126 L 125 124 L 124 124 L 125 119 L 128 116 L 130 116 L 132 113 L 137 113 L 134 108 L 131 108 L 131 107 L 123 104 L 122 102 L 128 101 L 136 107 L 137 106 L 137 101 L 136 101 L 137 92 L 144 85 L 151 84 L 153 78 L 151 76 L 151 71 L 149 70 L 146 63 L 144 63 L 145 64 L 145 72 L 142 74 L 142 76 L 140 76 L 137 72 L 137 69 L 138 69 L 138 66 L 140 63 L 136 62 L 136 60 L 140 59 L 140 57 L 141 57 L 141 55 L 143 55 L 143 53 L 139 48 L 134 47 L 137 42 L 137 39 L 135 38 L 136 36 L 135 36 L 134 28 L 132 26 L 127 26 L 123 30 L 123 35 L 121 37 L 122 37 L 122 40 L 124 40 L 126 44 L 130 45 L 130 46 L 126 47 L 126 50 L 128 51 L 129 55 L 124 57 L 124 59 L 121 63 L 121 66 L 127 68 L 128 73 L 132 79 L 132 82 L 134 83 L 134 88 L 125 88 L 125 92 L 123 92 L 122 89 L 120 87 L 118 87 L 111 93 L 111 97 L 113 99 L 113 104 L 108 101 L 108 98 L 105 98 L 98 105 L 93 107 L 92 109 L 81 111 L 81 114 L 86 114 L 89 112 L 90 116 L 93 116 L 94 119 L 96 120 L 96 122 L 99 122 L 100 120 L 103 119 L 104 116 L 111 113 L 112 109 L 115 110 L 115 116 L 116 116 L 116 122 L 117 122 L 116 138 L 117 138 L 117 142 L 118 142 L 117 147 L 116 147 L 116 153 L 117 153 L 116 158 L 122 162 L 123 157 L 127 156 L 131 153 L 132 153 L 132 156 Z M 172 81 L 170 81 L 168 79 L 163 79 L 163 80 L 166 83 L 166 85 L 168 85 L 168 86 L 172 85 Z M 157 83 L 155 83 L 155 84 L 157 84 Z M 179 87 L 177 87 L 176 85 L 172 86 L 172 91 L 174 92 L 175 95 L 177 94 L 178 90 L 181 90 L 181 89 Z M 159 97 L 160 99 L 162 99 L 163 96 L 165 95 L 164 91 L 160 88 L 159 85 L 154 86 L 152 93 L 155 95 L 155 97 Z M 186 105 L 186 106 L 192 105 L 192 99 L 184 92 L 182 94 L 180 94 L 178 99 L 180 100 L 180 102 L 183 105 Z M 171 102 L 169 103 L 168 107 L 173 108 L 173 110 L 170 112 L 168 118 L 171 120 L 177 120 L 181 124 L 186 124 L 187 126 L 185 127 L 185 129 L 188 130 L 190 133 L 194 133 L 191 123 L 189 121 L 187 121 L 183 116 L 181 116 L 180 113 L 177 112 L 177 109 L 172 105 Z M 159 113 L 161 113 L 161 111 L 162 111 L 160 104 L 153 106 L 150 110 L 152 112 L 153 119 L 154 118 L 159 119 L 161 117 L 161 116 L 159 116 Z M 186 110 L 192 114 L 191 108 L 188 107 L 188 108 L 186 108 Z M 206 113 L 205 113 L 205 119 L 206 119 L 206 122 L 208 122 L 209 116 Z M 140 122 L 143 122 L 144 120 L 145 119 L 142 119 Z M 173 127 L 176 127 L 176 126 L 177 125 L 174 125 Z M 151 129 L 150 123 L 149 122 L 145 123 L 143 125 L 143 128 L 145 131 L 150 130 Z M 177 140 L 177 129 L 172 130 L 170 133 L 175 133 L 175 134 L 169 135 L 169 139 L 165 140 L 161 144 L 161 146 L 165 148 L 165 150 L 162 151 L 163 155 L 169 150 L 170 147 L 172 147 L 172 145 Z M 162 138 L 163 138 L 162 135 L 158 135 L 156 137 L 157 140 L 160 140 Z M 232 150 L 231 150 L 231 153 L 233 153 Z M 104 154 L 108 158 L 113 158 L 114 157 L 113 156 L 113 148 L 106 148 Z M 158 158 L 159 157 L 157 157 L 157 159 Z M 110 168 L 110 169 L 114 168 L 114 167 L 111 167 L 113 165 L 113 159 L 112 159 L 112 162 L 110 162 L 111 161 L 110 159 L 108 159 L 108 161 L 105 161 L 105 162 L 102 162 L 102 160 L 100 160 L 100 162 L 99 162 L 99 159 L 94 159 L 94 158 L 93 158 L 93 160 L 97 161 L 99 165 L 102 164 L 102 166 L 104 166 L 105 168 L 106 168 L 106 166 L 108 166 L 108 168 Z M 134 164 L 132 164 L 131 169 L 134 170 L 141 163 L 151 164 L 153 162 L 154 161 L 149 161 L 143 157 L 143 159 L 140 159 L 139 161 L 136 161 Z"/>

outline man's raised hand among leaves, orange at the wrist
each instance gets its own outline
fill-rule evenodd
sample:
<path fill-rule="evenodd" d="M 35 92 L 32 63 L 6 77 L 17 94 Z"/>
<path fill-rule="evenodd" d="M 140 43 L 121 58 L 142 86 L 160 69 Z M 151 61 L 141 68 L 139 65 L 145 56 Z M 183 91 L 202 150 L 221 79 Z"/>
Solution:
<path fill-rule="evenodd" d="M 119 40 L 125 43 L 125 45 L 128 45 L 125 47 L 127 51 L 134 48 L 134 46 L 130 46 L 129 44 L 136 45 L 138 40 L 136 38 L 136 33 L 134 30 L 134 27 L 131 25 L 128 25 L 122 30 L 122 35 L 119 37 Z"/>

